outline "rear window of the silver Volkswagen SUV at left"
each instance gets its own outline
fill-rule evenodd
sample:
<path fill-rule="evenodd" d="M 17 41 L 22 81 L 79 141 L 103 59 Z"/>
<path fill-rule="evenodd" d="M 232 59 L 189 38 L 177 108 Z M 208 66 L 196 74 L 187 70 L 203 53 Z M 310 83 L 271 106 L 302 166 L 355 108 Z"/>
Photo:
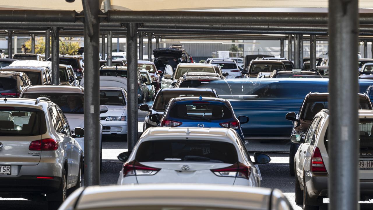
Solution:
<path fill-rule="evenodd" d="M 46 132 L 43 111 L 16 106 L 0 106 L 0 136 L 36 136 Z"/>

